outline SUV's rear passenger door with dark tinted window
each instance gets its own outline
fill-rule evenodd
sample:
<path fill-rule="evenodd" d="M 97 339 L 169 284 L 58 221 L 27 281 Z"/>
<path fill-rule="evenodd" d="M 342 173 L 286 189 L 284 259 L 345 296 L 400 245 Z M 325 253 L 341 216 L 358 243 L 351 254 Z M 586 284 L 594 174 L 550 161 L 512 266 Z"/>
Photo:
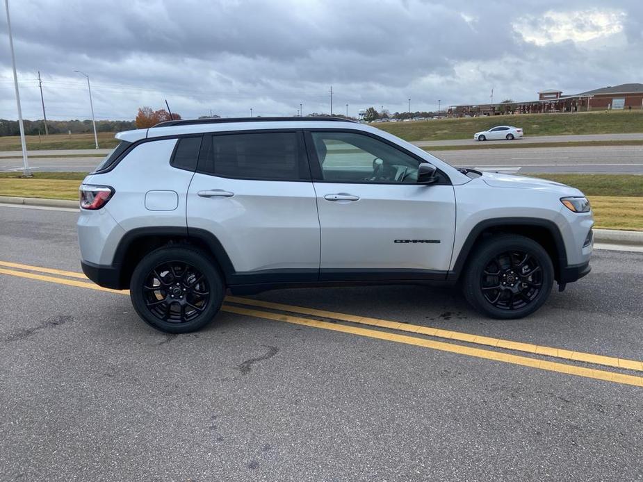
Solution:
<path fill-rule="evenodd" d="M 187 220 L 190 233 L 222 244 L 231 284 L 316 281 L 319 220 L 302 133 L 205 135 Z"/>

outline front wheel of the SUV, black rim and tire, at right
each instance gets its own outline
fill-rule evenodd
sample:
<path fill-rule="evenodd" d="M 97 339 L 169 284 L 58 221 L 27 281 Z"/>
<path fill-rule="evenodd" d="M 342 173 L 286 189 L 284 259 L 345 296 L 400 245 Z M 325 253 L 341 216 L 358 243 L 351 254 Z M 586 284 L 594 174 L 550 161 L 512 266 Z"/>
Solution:
<path fill-rule="evenodd" d="M 520 235 L 496 235 L 475 247 L 462 289 L 483 315 L 517 319 L 544 304 L 553 278 L 551 258 L 540 244 Z"/>

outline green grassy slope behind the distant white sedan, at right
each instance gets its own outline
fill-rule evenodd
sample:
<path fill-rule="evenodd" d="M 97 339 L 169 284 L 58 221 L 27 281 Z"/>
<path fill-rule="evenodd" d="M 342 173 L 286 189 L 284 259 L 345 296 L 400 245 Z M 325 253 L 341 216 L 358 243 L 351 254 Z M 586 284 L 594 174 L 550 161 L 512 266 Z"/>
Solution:
<path fill-rule="evenodd" d="M 405 140 L 473 139 L 473 134 L 498 125 L 521 127 L 525 135 L 612 134 L 643 132 L 643 111 L 496 115 L 372 124 Z"/>

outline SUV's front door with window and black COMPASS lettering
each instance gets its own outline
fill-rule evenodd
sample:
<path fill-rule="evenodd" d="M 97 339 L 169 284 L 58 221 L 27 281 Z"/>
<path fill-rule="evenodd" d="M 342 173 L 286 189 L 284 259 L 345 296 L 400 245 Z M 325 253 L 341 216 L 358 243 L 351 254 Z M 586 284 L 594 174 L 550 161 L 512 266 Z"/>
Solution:
<path fill-rule="evenodd" d="M 417 183 L 425 162 L 373 135 L 307 133 L 321 227 L 320 280 L 443 279 L 455 194 Z"/>

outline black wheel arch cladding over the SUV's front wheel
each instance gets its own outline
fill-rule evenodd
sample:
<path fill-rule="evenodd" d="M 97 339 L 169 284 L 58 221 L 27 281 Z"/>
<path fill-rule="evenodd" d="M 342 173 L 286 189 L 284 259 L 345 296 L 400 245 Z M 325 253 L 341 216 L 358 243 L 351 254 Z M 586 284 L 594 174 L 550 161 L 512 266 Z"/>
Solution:
<path fill-rule="evenodd" d="M 532 217 L 506 217 L 498 219 L 485 219 L 476 224 L 466 237 L 462 249 L 457 254 L 452 269 L 448 272 L 447 279 L 455 281 L 462 275 L 475 251 L 475 247 L 491 235 L 516 234 L 526 236 L 540 244 L 551 258 L 554 267 L 554 278 L 558 280 L 564 267 L 567 267 L 567 252 L 558 226 L 548 219 Z"/>

